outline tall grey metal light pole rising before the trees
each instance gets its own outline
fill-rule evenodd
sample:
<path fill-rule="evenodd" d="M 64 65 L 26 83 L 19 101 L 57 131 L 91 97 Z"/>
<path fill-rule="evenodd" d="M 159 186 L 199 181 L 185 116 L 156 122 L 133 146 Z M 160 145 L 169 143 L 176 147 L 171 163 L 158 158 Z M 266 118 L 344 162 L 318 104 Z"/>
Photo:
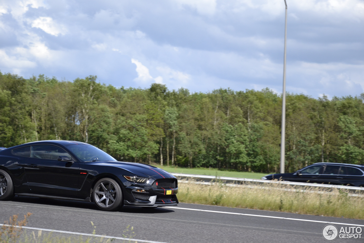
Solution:
<path fill-rule="evenodd" d="M 286 50 L 287 50 L 287 3 L 286 19 L 284 27 L 284 61 L 283 61 L 283 93 L 282 93 L 282 128 L 281 128 L 281 173 L 284 173 L 285 166 L 285 147 L 286 147 Z"/>

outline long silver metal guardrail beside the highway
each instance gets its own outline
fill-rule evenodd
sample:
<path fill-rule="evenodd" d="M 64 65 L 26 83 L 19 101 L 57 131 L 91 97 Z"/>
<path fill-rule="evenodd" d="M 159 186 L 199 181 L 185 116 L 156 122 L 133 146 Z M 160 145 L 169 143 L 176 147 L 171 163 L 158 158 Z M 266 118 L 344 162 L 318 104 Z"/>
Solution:
<path fill-rule="evenodd" d="M 337 189 L 347 189 L 350 191 L 361 191 L 364 192 L 363 187 L 357 186 L 339 186 L 339 185 L 328 185 L 328 184 L 315 184 L 315 183 L 305 183 L 305 182 L 290 182 L 290 181 L 271 181 L 271 180 L 258 180 L 258 179 L 248 179 L 248 178 L 235 178 L 235 177 L 223 177 L 223 176 L 212 176 L 212 175 L 194 175 L 194 174 L 180 174 L 180 173 L 170 173 L 177 177 L 178 179 L 185 180 L 197 180 L 204 182 L 211 181 L 222 181 L 225 184 L 245 184 L 246 182 L 254 184 L 283 184 L 283 185 L 294 185 L 301 187 L 317 187 L 317 188 L 337 188 Z"/>

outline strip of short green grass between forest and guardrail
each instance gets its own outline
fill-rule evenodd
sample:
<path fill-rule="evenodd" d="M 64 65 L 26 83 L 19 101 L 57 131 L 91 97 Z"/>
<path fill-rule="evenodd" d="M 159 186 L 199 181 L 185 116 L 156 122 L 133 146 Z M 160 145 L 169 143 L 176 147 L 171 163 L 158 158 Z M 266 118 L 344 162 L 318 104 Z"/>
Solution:
<path fill-rule="evenodd" d="M 240 172 L 240 171 L 223 171 L 217 169 L 208 168 L 184 168 L 177 166 L 161 166 L 154 165 L 170 173 L 182 173 L 182 174 L 195 174 L 195 175 L 217 175 L 226 177 L 237 177 L 237 178 L 249 178 L 249 179 L 260 179 L 261 177 L 267 175 L 266 173 L 256 173 L 256 172 Z"/>

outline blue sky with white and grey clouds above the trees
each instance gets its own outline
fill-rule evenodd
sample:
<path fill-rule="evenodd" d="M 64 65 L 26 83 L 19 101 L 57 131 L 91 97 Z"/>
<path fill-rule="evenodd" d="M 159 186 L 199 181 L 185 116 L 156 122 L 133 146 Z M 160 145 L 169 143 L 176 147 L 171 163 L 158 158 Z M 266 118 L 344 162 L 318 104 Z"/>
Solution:
<path fill-rule="evenodd" d="M 287 0 L 286 90 L 364 92 L 364 0 Z M 0 0 L 0 72 L 282 92 L 284 0 Z"/>

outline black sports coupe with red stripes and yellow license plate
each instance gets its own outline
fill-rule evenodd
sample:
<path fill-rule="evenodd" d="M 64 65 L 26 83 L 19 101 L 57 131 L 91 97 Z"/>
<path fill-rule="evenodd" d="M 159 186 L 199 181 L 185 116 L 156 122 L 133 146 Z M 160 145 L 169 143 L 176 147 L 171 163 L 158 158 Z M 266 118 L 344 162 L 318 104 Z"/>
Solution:
<path fill-rule="evenodd" d="M 48 140 L 0 151 L 0 200 L 14 195 L 119 206 L 177 205 L 177 178 L 165 170 L 119 162 L 90 144 Z"/>

